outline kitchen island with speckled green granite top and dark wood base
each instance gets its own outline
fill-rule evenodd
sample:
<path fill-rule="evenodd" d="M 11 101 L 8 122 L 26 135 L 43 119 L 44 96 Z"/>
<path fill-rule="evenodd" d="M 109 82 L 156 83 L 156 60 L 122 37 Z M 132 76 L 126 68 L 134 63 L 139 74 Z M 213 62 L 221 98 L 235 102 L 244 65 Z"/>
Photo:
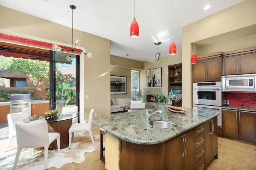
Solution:
<path fill-rule="evenodd" d="M 217 157 L 219 113 L 185 109 L 185 113 L 167 109 L 165 115 L 157 113 L 150 121 L 146 121 L 146 110 L 95 118 L 93 123 L 106 130 L 106 169 L 204 168 Z M 168 121 L 177 127 L 153 127 L 152 121 Z"/>

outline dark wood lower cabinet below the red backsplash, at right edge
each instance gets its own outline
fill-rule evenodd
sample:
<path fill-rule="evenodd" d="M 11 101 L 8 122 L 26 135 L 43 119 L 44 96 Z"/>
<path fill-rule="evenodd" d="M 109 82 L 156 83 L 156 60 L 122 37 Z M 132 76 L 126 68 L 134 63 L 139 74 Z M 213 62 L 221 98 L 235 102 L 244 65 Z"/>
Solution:
<path fill-rule="evenodd" d="M 222 109 L 222 135 L 256 142 L 256 113 Z"/>

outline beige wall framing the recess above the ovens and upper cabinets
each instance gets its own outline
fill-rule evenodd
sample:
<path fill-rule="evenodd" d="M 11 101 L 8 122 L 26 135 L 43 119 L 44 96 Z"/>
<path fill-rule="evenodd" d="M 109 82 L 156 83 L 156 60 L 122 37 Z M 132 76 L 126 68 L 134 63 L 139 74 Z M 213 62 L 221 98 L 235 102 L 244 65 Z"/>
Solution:
<path fill-rule="evenodd" d="M 210 44 L 201 48 L 196 47 L 196 53 L 211 53 L 218 51 L 230 51 L 237 47 L 239 49 L 255 46 L 255 36 L 246 34 L 247 28 L 256 25 L 256 1 L 245 0 L 237 5 L 231 6 L 216 14 L 203 18 L 182 28 L 182 106 L 192 107 L 192 76 L 191 55 L 193 42 L 210 40 Z M 245 29 L 243 29 L 245 28 Z M 249 29 L 250 30 L 250 29 Z M 236 34 L 232 34 L 235 32 Z M 222 38 L 218 41 L 215 38 Z M 243 45 L 237 44 L 235 39 L 242 38 Z M 214 41 L 216 41 L 214 43 Z M 207 42 L 207 41 L 206 41 Z M 201 42 L 200 42 L 201 43 Z M 234 45 L 234 47 L 232 47 Z M 199 51 L 198 51 L 199 50 Z"/>

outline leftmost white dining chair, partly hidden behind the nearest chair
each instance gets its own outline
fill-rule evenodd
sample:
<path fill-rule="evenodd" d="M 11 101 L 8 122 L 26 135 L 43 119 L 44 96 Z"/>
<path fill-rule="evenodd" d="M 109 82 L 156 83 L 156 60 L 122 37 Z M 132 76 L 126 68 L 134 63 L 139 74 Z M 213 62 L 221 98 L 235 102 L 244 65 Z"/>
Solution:
<path fill-rule="evenodd" d="M 29 116 L 31 116 L 31 115 L 25 111 L 18 112 L 18 113 L 9 113 L 7 115 L 8 127 L 9 127 L 9 138 L 8 138 L 8 141 L 6 144 L 6 151 L 8 151 L 12 137 L 16 136 L 16 128 L 15 128 L 16 122 L 22 121 L 23 119 L 26 119 Z"/>

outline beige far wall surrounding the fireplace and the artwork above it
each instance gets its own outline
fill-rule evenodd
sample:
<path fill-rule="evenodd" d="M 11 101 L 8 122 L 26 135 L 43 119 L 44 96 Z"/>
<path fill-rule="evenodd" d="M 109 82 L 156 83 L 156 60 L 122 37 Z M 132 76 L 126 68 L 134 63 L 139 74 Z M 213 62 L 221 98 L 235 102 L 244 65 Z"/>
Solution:
<path fill-rule="evenodd" d="M 168 87 L 169 87 L 168 65 L 181 63 L 181 53 L 163 57 L 163 59 L 164 59 L 163 62 L 158 62 L 156 60 L 154 62 L 144 62 L 144 69 L 140 71 L 140 89 L 142 90 L 142 93 L 144 88 L 161 88 L 161 87 L 147 87 L 147 84 L 146 84 L 146 71 L 148 69 L 154 69 L 159 67 L 162 67 L 162 92 L 164 94 L 168 93 Z M 182 65 L 182 68 L 183 68 L 183 65 Z M 183 72 L 182 72 L 182 75 L 183 75 Z"/>

